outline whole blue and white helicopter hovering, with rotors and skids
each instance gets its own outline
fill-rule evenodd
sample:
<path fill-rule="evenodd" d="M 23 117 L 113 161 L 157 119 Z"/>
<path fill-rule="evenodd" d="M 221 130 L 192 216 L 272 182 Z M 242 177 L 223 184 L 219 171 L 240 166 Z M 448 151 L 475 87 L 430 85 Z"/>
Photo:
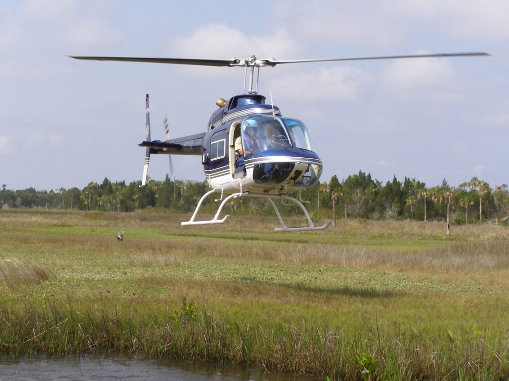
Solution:
<path fill-rule="evenodd" d="M 276 60 L 259 59 L 251 55 L 246 59 L 194 59 L 151 58 L 116 56 L 69 56 L 75 59 L 99 61 L 130 61 L 172 63 L 216 67 L 243 67 L 244 90 L 242 94 L 216 101 L 217 109 L 210 116 L 205 132 L 169 139 L 165 121 L 166 140 L 150 138 L 149 94 L 146 94 L 146 139 L 138 144 L 146 147 L 142 185 L 147 182 L 150 155 L 199 155 L 206 180 L 211 188 L 205 193 L 189 221 L 182 226 L 222 224 L 229 215 L 220 218 L 223 207 L 234 198 L 253 197 L 266 199 L 273 207 L 281 225 L 275 232 L 324 230 L 330 222 L 315 226 L 302 200 L 301 192 L 316 184 L 323 170 L 307 126 L 299 119 L 283 116 L 280 109 L 266 103 L 266 97 L 258 93 L 261 67 L 274 67 L 285 63 L 352 61 L 372 59 L 400 59 L 427 57 L 458 57 L 489 55 L 484 52 L 392 55 L 357 58 Z M 170 160 L 171 163 L 171 160 Z M 171 165 L 171 164 L 170 164 Z M 298 199 L 289 196 L 298 192 Z M 221 202 L 212 219 L 196 220 L 204 200 L 214 193 Z M 307 226 L 287 227 L 274 203 L 290 201 L 300 207 Z M 288 204 L 285 204 L 288 205 Z"/>

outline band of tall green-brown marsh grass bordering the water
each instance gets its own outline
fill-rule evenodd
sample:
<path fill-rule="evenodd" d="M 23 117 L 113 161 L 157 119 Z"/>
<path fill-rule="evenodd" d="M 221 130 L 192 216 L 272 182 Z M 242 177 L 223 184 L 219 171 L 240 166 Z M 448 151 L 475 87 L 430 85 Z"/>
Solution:
<path fill-rule="evenodd" d="M 185 303 L 185 302 L 184 302 Z M 192 304 L 192 308 L 190 305 Z M 356 357 L 373 354 L 373 379 L 505 379 L 507 342 L 473 331 L 431 335 L 419 326 L 364 330 L 302 321 L 257 324 L 218 316 L 194 302 L 174 311 L 105 305 L 28 304 L 0 309 L 2 349 L 10 356 L 139 354 L 258 365 L 357 380 Z"/>

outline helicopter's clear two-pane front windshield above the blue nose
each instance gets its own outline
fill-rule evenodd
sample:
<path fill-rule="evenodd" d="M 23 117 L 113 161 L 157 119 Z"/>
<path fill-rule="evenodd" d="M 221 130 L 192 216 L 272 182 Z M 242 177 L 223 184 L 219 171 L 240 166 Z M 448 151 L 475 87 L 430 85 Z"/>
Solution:
<path fill-rule="evenodd" d="M 242 144 L 244 152 L 249 154 L 282 147 L 297 147 L 317 152 L 304 123 L 277 116 L 246 117 L 242 122 Z"/>

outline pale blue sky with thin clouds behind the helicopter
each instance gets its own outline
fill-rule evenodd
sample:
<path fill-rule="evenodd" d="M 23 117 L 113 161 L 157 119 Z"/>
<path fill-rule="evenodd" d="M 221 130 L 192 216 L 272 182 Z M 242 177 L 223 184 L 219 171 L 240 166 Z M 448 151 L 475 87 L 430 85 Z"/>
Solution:
<path fill-rule="evenodd" d="M 205 131 L 242 68 L 79 61 L 68 55 L 313 59 L 477 52 L 489 57 L 314 62 L 262 68 L 259 93 L 303 120 L 322 181 L 359 170 L 459 185 L 509 183 L 506 0 L 26 0 L 0 3 L 0 183 L 83 188 L 141 179 L 145 94 L 152 139 Z M 205 179 L 173 156 L 177 179 Z M 165 178 L 167 156 L 149 176 Z"/>

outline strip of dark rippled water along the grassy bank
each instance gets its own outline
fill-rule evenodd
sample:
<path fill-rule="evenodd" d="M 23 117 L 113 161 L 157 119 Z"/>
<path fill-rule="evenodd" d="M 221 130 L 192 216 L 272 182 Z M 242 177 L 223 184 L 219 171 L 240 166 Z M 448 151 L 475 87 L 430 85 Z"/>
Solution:
<path fill-rule="evenodd" d="M 267 372 L 260 368 L 223 366 L 179 360 L 119 357 L 0 358 L 0 381 L 317 381 L 313 376 Z"/>

